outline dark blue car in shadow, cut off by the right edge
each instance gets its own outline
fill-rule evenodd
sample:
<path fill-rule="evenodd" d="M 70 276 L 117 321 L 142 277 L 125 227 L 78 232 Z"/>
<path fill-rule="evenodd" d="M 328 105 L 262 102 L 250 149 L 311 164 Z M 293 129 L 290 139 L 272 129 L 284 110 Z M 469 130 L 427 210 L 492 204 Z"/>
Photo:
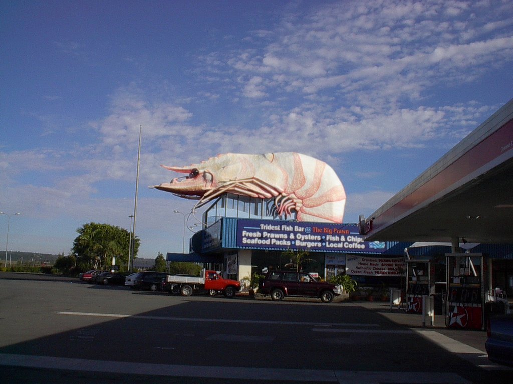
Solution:
<path fill-rule="evenodd" d="M 485 348 L 490 361 L 513 367 L 513 314 L 490 317 Z"/>

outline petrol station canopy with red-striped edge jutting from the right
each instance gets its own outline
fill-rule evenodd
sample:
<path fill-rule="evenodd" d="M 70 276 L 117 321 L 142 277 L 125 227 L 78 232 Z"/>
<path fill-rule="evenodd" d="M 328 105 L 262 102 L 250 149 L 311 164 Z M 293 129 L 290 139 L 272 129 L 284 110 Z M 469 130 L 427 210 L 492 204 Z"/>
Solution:
<path fill-rule="evenodd" d="M 513 243 L 513 100 L 368 218 L 366 241 Z"/>

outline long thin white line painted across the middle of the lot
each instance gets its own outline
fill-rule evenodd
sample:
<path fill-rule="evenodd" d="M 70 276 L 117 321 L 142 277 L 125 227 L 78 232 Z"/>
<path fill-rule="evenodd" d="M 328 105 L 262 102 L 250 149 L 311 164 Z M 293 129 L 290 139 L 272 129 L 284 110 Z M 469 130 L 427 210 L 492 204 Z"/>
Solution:
<path fill-rule="evenodd" d="M 114 318 L 137 318 L 145 320 L 167 320 L 173 322 L 203 322 L 203 323 L 232 323 L 232 324 L 269 324 L 269 325 L 299 325 L 308 327 L 350 327 L 350 328 L 378 328 L 378 324 L 351 324 L 351 323 L 306 323 L 306 322 L 272 322 L 260 320 L 230 320 L 223 318 L 189 318 L 189 317 L 164 317 L 164 316 L 140 316 L 121 315 L 111 313 L 88 313 L 88 312 L 57 312 L 58 315 L 92 316 L 92 317 L 114 317 Z"/>

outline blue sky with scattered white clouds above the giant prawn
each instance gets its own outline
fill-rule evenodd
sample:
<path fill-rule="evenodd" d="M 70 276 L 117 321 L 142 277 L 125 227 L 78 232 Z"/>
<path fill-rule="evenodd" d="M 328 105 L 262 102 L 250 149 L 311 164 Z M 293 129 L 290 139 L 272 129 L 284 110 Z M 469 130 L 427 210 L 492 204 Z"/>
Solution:
<path fill-rule="evenodd" d="M 512 97 L 513 4 L 0 4 L 0 211 L 9 249 L 68 254 L 94 221 L 139 257 L 182 250 L 194 202 L 150 185 L 223 153 L 327 162 L 370 215 Z M 0 249 L 7 217 L 0 215 Z M 190 232 L 188 232 L 190 234 Z"/>

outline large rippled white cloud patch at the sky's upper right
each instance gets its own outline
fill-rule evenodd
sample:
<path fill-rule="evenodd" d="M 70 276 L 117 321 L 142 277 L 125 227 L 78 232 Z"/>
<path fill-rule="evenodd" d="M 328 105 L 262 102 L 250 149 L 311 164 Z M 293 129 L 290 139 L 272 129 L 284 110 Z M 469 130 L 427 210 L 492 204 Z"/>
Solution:
<path fill-rule="evenodd" d="M 511 24 L 501 7 L 505 3 L 459 1 L 315 6 L 306 15 L 284 17 L 274 34 L 266 34 L 267 46 L 234 51 L 213 69 L 228 65 L 244 75 L 240 95 L 247 98 L 269 95 L 255 89 L 257 75 L 279 79 L 282 90 L 300 90 L 305 98 L 329 90 L 365 100 L 372 87 L 373 99 L 389 109 L 403 97 L 419 99 L 434 84 L 472 80 L 490 70 L 486 64 L 497 56 L 510 59 L 511 35 L 482 37 Z M 489 18 L 473 17 L 475 12 L 497 20 L 489 23 Z"/>

